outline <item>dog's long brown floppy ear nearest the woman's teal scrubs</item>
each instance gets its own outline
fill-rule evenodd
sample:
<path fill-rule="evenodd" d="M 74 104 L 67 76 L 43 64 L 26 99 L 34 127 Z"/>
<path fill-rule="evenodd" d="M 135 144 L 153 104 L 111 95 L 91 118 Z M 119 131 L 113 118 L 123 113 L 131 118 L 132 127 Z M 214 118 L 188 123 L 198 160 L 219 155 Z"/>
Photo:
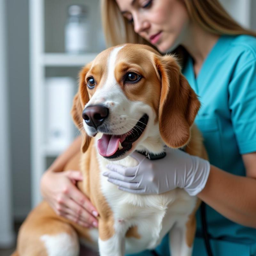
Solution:
<path fill-rule="evenodd" d="M 162 83 L 158 113 L 160 134 L 166 145 L 180 148 L 188 143 L 190 126 L 200 102 L 173 56 L 155 56 L 154 61 Z"/>

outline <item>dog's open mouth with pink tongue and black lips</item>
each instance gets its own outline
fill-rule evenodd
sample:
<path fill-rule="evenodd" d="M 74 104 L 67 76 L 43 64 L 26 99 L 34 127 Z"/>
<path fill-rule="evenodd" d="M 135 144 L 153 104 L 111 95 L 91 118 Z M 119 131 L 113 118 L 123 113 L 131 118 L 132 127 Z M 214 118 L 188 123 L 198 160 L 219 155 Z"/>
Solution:
<path fill-rule="evenodd" d="M 132 148 L 148 124 L 148 115 L 144 114 L 129 132 L 122 135 L 103 134 L 97 141 L 99 154 L 105 158 L 117 158 Z"/>

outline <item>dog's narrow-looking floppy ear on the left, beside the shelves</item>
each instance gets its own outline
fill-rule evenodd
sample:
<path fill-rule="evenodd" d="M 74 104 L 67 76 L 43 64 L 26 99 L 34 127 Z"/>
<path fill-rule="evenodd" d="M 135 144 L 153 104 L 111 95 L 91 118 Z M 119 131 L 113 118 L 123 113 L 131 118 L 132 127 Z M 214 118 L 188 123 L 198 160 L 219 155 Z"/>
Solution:
<path fill-rule="evenodd" d="M 91 63 L 86 65 L 79 73 L 79 88 L 78 88 L 78 92 L 74 97 L 73 106 L 71 109 L 71 115 L 72 115 L 73 121 L 76 124 L 76 127 L 82 133 L 81 150 L 83 153 L 89 147 L 90 140 L 91 140 L 91 137 L 88 136 L 88 134 L 84 130 L 83 117 L 82 117 L 84 106 L 89 101 L 89 95 L 86 89 L 87 85 L 85 84 L 85 76 L 86 76 L 86 73 L 89 71 L 90 67 L 91 67 Z"/>

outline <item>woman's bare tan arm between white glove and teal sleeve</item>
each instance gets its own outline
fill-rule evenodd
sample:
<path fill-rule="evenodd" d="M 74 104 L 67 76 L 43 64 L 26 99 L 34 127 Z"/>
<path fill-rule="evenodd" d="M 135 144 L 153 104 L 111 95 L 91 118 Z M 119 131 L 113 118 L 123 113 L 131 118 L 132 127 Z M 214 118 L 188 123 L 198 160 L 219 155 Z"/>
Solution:
<path fill-rule="evenodd" d="M 204 189 L 197 195 L 230 220 L 256 228 L 256 152 L 244 154 L 246 177 L 211 166 Z"/>

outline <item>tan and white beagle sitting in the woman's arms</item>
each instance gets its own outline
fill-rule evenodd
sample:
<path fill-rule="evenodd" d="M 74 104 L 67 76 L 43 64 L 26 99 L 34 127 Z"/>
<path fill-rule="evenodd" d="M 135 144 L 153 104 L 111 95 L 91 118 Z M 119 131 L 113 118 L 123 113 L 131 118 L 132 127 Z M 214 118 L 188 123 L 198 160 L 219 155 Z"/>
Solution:
<path fill-rule="evenodd" d="M 200 204 L 196 196 L 180 188 L 160 195 L 131 194 L 102 173 L 110 162 L 137 165 L 130 156 L 134 150 L 158 155 L 165 145 L 188 145 L 187 153 L 206 159 L 193 125 L 199 107 L 172 55 L 161 56 L 139 44 L 101 52 L 80 72 L 72 116 L 83 143 L 66 166 L 80 165 L 84 179 L 78 188 L 99 212 L 99 228 L 83 228 L 57 216 L 43 201 L 22 224 L 13 255 L 76 256 L 84 242 L 100 256 L 123 256 L 155 248 L 167 233 L 172 256 L 191 255 Z"/>

